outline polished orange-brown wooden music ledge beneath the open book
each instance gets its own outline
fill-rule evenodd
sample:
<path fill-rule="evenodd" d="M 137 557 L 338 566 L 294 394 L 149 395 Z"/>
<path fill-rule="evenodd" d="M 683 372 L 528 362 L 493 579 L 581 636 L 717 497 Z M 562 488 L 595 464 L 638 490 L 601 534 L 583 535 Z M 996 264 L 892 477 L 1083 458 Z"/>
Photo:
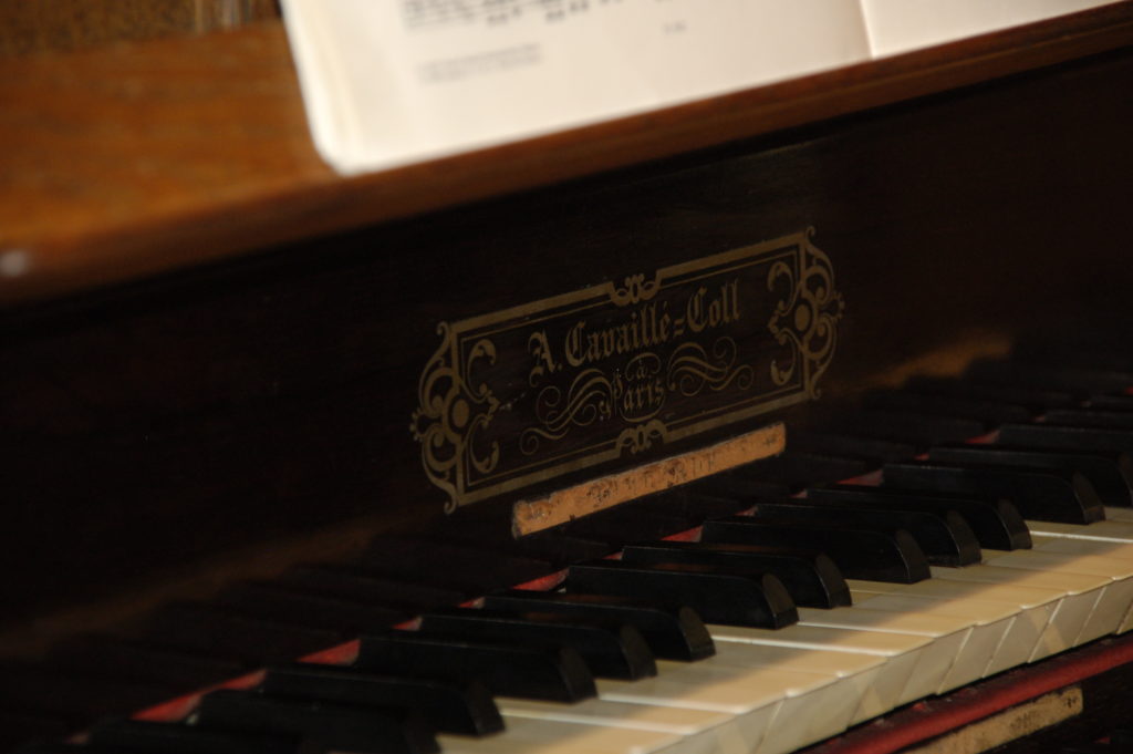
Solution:
<path fill-rule="evenodd" d="M 1133 43 L 1133 2 L 343 179 L 279 23 L 0 62 L 0 304 L 714 147 Z"/>

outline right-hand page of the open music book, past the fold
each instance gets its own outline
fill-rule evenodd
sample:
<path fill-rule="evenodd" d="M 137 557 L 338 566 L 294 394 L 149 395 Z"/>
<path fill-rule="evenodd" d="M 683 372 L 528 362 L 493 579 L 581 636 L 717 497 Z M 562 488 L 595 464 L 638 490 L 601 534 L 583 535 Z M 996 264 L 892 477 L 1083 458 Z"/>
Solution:
<path fill-rule="evenodd" d="M 1055 18 L 1116 0 L 861 0 L 875 57 Z"/>

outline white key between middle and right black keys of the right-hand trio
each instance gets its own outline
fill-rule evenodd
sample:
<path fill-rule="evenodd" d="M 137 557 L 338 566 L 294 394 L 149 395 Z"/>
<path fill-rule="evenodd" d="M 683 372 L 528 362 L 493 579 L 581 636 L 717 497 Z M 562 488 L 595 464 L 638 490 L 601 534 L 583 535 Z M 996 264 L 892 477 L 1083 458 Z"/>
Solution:
<path fill-rule="evenodd" d="M 1109 579 L 1076 644 L 1085 644 L 1117 630 L 1133 604 L 1133 562 L 1091 554 L 1063 554 L 1036 550 L 988 553 L 987 565 L 1043 573 L 1089 574 Z"/>

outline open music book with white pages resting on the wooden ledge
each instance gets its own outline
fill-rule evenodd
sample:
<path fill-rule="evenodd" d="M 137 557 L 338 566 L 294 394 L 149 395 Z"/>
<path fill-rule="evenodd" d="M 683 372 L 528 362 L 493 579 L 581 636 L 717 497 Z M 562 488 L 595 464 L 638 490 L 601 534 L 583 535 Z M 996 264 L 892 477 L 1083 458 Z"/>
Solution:
<path fill-rule="evenodd" d="M 315 144 L 392 168 L 1113 0 L 283 0 Z"/>

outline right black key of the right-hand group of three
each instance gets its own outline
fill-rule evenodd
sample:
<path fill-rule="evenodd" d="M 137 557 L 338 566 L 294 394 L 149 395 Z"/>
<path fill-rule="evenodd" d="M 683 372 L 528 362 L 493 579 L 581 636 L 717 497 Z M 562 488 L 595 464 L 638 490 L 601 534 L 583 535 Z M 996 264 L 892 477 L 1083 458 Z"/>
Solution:
<path fill-rule="evenodd" d="M 974 495 L 965 498 L 922 490 L 903 490 L 889 485 L 833 484 L 807 490 L 807 500 L 895 510 L 927 510 L 936 514 L 955 510 L 976 533 L 981 548 L 1020 550 L 1031 547 L 1031 533 L 1023 517 L 1006 498 L 981 499 Z"/>

